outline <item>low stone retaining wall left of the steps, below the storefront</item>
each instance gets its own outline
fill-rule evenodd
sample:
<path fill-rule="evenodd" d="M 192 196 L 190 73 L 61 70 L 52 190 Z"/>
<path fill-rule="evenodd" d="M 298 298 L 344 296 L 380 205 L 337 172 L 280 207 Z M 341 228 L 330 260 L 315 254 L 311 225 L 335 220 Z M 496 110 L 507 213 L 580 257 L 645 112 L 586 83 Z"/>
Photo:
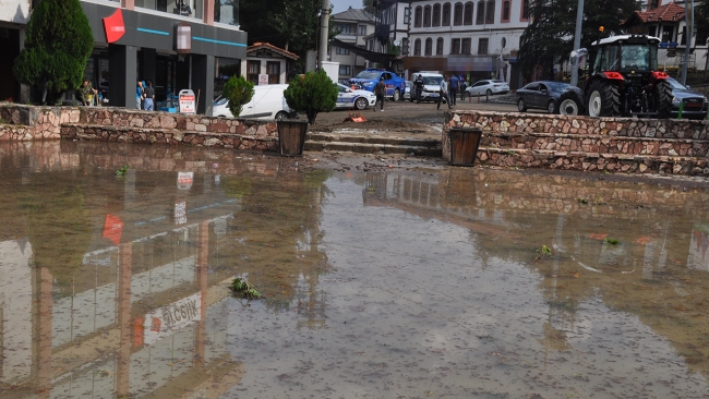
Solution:
<path fill-rule="evenodd" d="M 275 122 L 108 107 L 0 104 L 0 141 L 81 138 L 277 150 Z"/>

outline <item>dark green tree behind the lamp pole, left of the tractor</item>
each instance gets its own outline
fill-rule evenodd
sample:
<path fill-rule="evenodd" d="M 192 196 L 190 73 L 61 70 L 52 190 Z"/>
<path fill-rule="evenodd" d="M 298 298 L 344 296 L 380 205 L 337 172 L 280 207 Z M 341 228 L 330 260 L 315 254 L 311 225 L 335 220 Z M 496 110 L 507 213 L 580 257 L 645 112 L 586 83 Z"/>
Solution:
<path fill-rule="evenodd" d="M 568 60 L 574 50 L 577 8 L 578 0 L 530 1 L 531 23 L 521 35 L 517 56 L 525 75 L 531 75 L 537 65 L 549 72 Z M 591 43 L 599 38 L 600 26 L 606 33 L 620 34 L 621 23 L 636 10 L 639 4 L 635 0 L 585 0 L 581 47 L 590 50 Z"/>

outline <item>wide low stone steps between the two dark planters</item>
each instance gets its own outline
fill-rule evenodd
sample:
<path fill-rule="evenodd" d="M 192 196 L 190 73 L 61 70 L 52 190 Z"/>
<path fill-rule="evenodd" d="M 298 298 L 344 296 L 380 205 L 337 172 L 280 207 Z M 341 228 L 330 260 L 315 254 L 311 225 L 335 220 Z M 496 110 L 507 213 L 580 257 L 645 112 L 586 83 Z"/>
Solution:
<path fill-rule="evenodd" d="M 348 133 L 308 133 L 305 150 L 348 152 L 358 154 L 408 154 L 440 157 L 441 141 Z"/>

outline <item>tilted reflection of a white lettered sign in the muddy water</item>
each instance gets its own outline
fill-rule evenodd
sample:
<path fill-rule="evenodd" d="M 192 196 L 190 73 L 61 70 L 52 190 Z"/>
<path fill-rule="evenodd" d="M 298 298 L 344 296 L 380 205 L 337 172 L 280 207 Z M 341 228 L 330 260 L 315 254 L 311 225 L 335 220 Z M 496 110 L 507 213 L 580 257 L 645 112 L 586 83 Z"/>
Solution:
<path fill-rule="evenodd" d="M 202 293 L 179 300 L 146 314 L 143 324 L 143 342 L 152 344 L 202 318 Z"/>

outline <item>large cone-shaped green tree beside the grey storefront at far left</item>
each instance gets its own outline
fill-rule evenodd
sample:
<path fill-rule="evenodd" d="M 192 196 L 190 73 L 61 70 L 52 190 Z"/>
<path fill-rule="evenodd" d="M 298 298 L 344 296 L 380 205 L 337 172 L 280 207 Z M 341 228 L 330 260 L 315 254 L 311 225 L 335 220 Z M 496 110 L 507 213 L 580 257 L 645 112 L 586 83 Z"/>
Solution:
<path fill-rule="evenodd" d="M 14 61 L 17 81 L 39 86 L 43 104 L 82 83 L 94 47 L 88 19 L 79 0 L 44 0 L 27 24 L 25 48 Z"/>

